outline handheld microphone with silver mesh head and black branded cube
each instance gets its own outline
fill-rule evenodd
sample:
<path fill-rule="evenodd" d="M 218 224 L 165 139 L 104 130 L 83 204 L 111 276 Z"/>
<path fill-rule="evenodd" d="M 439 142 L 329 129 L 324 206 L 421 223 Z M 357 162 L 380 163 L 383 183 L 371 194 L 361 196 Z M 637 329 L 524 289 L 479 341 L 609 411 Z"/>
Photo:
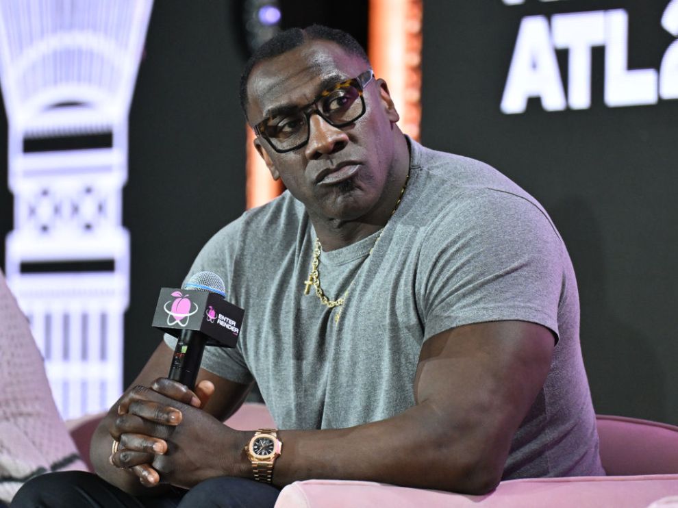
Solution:
<path fill-rule="evenodd" d="M 193 390 L 205 346 L 236 347 L 244 309 L 224 298 L 224 281 L 212 272 L 198 272 L 183 288 L 161 288 L 153 327 L 176 337 L 168 374 Z"/>

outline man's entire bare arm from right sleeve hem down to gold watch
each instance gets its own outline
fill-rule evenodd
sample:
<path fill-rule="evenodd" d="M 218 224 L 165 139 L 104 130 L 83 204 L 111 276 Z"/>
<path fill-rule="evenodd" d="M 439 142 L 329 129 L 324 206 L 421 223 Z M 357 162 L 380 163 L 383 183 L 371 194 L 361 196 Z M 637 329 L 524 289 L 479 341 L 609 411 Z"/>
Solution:
<path fill-rule="evenodd" d="M 477 323 L 422 347 L 417 405 L 331 431 L 281 431 L 273 481 L 362 479 L 484 494 L 501 480 L 513 437 L 542 390 L 554 340 L 531 322 Z"/>

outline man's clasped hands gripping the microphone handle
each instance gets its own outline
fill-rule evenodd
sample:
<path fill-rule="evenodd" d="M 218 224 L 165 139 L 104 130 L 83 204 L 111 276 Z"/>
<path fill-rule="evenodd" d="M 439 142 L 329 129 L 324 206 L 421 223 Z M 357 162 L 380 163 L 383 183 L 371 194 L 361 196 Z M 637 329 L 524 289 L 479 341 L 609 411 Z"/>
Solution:
<path fill-rule="evenodd" d="M 213 393 L 210 381 L 191 392 L 164 378 L 150 388 L 131 390 L 121 400 L 111 429 L 120 440 L 111 457 L 114 466 L 129 468 L 147 487 L 160 481 L 191 487 L 237 466 L 244 437 L 199 409 Z M 217 449 L 223 452 L 215 454 Z"/>

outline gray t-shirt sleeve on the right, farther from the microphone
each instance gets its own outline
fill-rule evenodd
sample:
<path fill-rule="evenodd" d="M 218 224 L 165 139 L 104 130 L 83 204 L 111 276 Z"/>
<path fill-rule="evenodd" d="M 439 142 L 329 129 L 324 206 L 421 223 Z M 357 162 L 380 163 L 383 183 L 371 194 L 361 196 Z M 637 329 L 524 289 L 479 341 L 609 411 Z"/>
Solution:
<path fill-rule="evenodd" d="M 499 190 L 429 227 L 422 249 L 420 312 L 424 340 L 476 322 L 521 320 L 558 338 L 564 244 L 538 205 Z"/>

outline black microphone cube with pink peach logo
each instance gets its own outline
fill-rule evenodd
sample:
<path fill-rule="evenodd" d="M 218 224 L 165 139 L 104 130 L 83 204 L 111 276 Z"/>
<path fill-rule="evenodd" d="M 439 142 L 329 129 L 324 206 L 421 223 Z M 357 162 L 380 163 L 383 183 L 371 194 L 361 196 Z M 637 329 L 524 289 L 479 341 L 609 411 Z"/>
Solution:
<path fill-rule="evenodd" d="M 176 338 L 181 331 L 199 331 L 208 346 L 233 348 L 238 342 L 244 309 L 220 295 L 201 290 L 162 288 L 153 314 L 153 328 Z"/>

